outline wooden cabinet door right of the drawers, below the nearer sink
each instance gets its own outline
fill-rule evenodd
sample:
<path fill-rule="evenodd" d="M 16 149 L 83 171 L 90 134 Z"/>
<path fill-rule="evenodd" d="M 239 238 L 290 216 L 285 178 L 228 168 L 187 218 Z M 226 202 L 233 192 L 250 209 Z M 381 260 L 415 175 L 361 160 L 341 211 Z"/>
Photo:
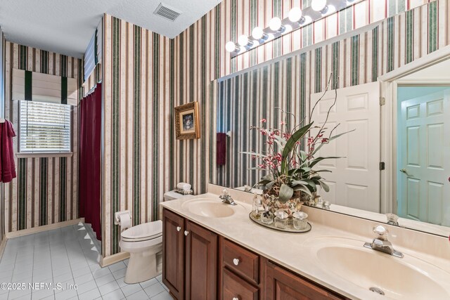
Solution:
<path fill-rule="evenodd" d="M 322 287 L 313 285 L 311 282 L 308 282 L 267 260 L 264 265 L 266 270 L 266 280 L 264 285 L 266 300 L 344 299 L 331 294 Z"/>

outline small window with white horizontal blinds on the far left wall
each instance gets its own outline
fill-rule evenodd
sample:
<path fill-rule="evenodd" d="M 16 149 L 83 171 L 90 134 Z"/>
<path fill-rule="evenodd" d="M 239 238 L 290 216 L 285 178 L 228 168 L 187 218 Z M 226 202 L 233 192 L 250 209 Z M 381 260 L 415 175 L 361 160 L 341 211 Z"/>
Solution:
<path fill-rule="evenodd" d="M 19 152 L 70 152 L 71 105 L 19 101 Z"/>

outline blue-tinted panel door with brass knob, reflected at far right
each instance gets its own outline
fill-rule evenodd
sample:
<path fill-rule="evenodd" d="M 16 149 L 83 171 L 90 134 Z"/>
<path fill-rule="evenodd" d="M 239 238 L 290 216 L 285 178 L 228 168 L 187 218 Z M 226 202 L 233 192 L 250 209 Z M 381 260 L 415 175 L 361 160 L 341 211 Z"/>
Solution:
<path fill-rule="evenodd" d="M 450 89 L 401 103 L 399 216 L 450 226 Z"/>

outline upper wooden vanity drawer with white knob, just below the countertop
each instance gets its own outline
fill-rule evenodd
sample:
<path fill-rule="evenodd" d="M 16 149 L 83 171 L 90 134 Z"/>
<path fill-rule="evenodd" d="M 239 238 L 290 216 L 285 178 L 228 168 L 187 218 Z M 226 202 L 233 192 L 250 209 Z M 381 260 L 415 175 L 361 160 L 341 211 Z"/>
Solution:
<path fill-rule="evenodd" d="M 243 278 L 259 284 L 259 256 L 225 240 L 222 244 L 223 264 Z"/>

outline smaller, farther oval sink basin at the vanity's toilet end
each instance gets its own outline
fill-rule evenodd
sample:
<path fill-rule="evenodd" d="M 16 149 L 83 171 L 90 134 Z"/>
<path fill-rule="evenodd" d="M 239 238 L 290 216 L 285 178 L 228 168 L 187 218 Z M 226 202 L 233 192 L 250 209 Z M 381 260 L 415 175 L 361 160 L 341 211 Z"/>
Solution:
<path fill-rule="evenodd" d="M 197 198 L 184 202 L 182 207 L 191 211 L 198 216 L 206 216 L 209 218 L 225 218 L 233 216 L 235 210 L 230 204 L 224 204 L 219 200 L 209 198 Z"/>

